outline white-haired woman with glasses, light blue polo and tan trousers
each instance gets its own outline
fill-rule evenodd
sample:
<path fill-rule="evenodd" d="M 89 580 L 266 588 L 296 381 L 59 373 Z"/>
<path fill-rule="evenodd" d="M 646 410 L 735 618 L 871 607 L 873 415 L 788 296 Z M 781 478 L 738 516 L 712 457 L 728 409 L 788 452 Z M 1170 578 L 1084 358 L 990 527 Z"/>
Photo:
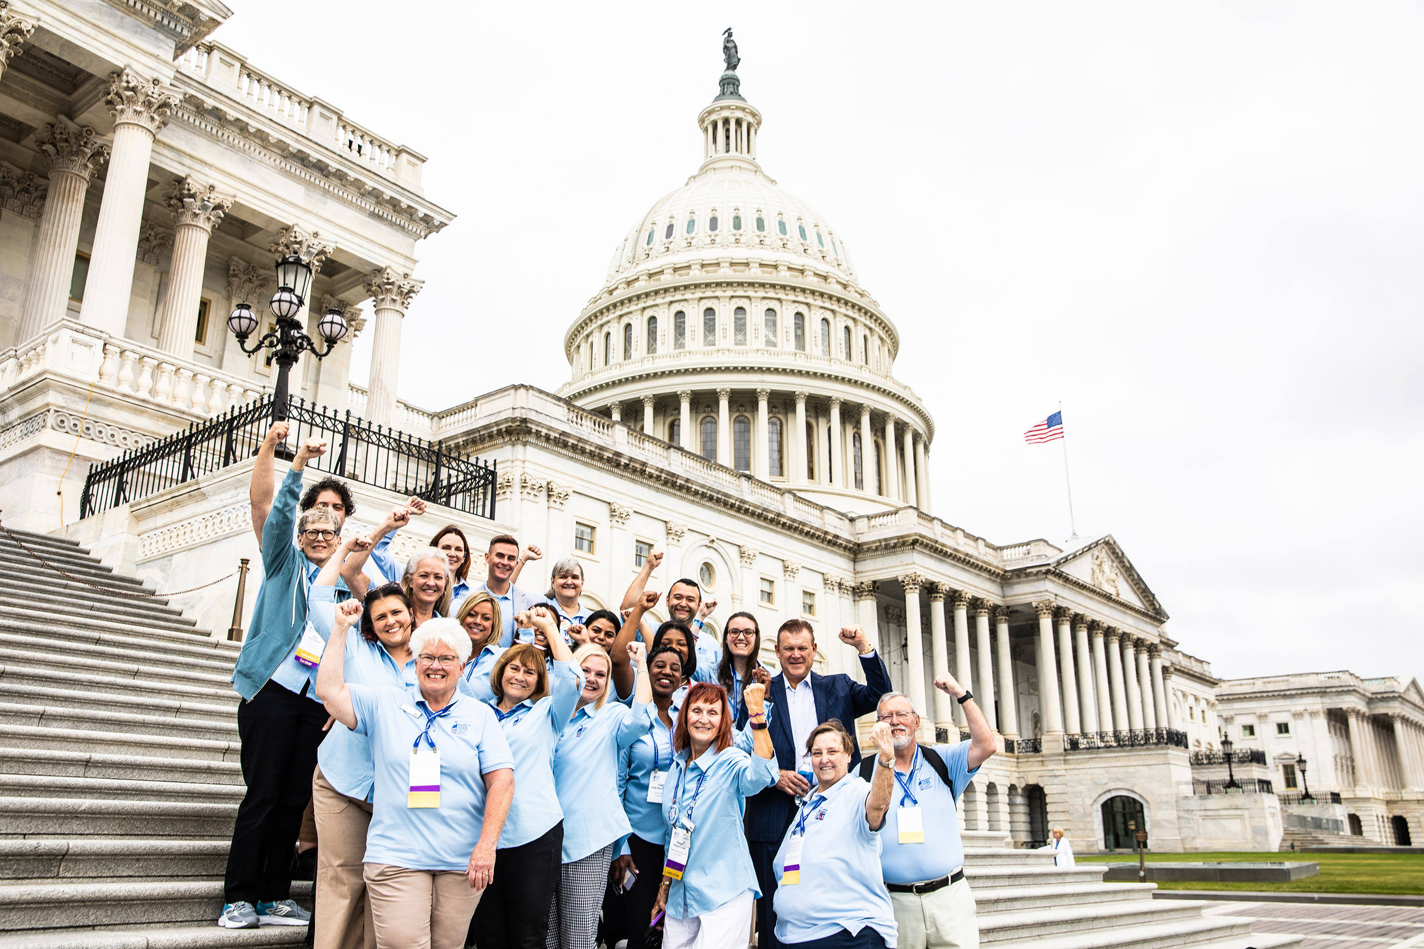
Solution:
<path fill-rule="evenodd" d="M 470 637 L 429 620 L 410 637 L 416 684 L 346 683 L 346 650 L 326 650 L 318 698 L 375 764 L 365 879 L 377 949 L 460 949 L 494 873 L 514 797 L 514 755 L 494 712 L 456 684 Z"/>

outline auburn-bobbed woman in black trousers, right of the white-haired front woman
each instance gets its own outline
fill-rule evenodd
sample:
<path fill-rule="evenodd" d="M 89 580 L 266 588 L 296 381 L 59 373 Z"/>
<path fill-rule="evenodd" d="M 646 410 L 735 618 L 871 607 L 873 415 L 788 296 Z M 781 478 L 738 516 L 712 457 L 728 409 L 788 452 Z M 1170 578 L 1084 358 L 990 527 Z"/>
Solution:
<path fill-rule="evenodd" d="M 494 885 L 470 932 L 480 946 L 543 946 L 564 854 L 564 812 L 554 788 L 554 748 L 578 705 L 584 675 L 548 607 L 515 617 L 534 643 L 515 643 L 494 663 L 488 704 L 514 752 L 518 792 L 500 838 Z M 545 663 L 545 650 L 554 661 Z"/>

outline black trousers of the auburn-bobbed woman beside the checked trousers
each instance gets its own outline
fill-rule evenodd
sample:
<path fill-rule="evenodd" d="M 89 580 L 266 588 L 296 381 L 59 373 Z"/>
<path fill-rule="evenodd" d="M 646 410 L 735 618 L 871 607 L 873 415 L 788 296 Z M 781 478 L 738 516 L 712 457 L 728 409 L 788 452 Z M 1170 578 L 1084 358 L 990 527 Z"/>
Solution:
<path fill-rule="evenodd" d="M 494 882 L 474 909 L 468 942 L 480 949 L 544 949 L 562 865 L 562 821 L 538 839 L 494 851 Z"/>

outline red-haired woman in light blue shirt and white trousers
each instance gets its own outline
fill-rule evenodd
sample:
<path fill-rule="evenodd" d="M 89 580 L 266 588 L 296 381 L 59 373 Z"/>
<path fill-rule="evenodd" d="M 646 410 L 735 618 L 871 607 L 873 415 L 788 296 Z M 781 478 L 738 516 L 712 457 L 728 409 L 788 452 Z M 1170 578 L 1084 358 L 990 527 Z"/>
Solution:
<path fill-rule="evenodd" d="M 682 702 L 672 732 L 672 769 L 664 785 L 668 848 L 652 916 L 656 925 L 666 913 L 664 949 L 746 946 L 760 889 L 742 818 L 746 798 L 780 777 L 766 732 L 765 698 L 760 683 L 742 693 L 753 732 L 752 755 L 732 744 L 726 690 L 698 683 Z"/>

